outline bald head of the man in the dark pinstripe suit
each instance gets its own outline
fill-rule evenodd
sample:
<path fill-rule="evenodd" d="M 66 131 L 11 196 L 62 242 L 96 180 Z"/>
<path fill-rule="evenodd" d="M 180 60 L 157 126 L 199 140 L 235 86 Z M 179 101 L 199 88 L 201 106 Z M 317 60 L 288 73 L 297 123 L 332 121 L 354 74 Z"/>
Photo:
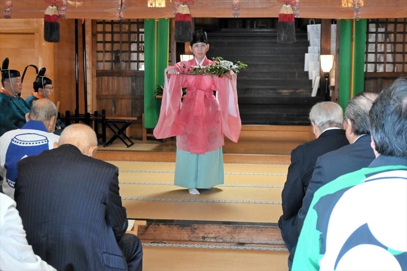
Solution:
<path fill-rule="evenodd" d="M 61 134 L 58 145 L 76 146 L 83 155 L 93 157 L 98 148 L 98 139 L 91 127 L 83 124 L 69 125 Z"/>

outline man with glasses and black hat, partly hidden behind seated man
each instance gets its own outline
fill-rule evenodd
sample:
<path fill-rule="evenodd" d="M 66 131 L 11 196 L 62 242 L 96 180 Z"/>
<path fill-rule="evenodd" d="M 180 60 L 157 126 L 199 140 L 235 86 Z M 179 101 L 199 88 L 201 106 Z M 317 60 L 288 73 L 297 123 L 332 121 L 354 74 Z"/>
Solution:
<path fill-rule="evenodd" d="M 32 67 L 35 67 L 34 65 L 30 65 Z M 28 67 L 25 67 L 24 73 L 23 73 L 23 78 L 21 80 L 24 80 L 24 74 L 25 71 L 27 70 Z M 37 69 L 37 67 L 35 67 Z M 35 79 L 35 82 L 33 83 L 33 94 L 25 99 L 28 105 L 33 106 L 34 101 L 38 101 L 39 99 L 49 99 L 52 94 L 54 93 L 54 87 L 52 86 L 52 80 L 49 79 L 48 77 L 45 76 L 45 68 L 42 68 Z M 55 126 L 55 131 L 54 134 L 56 135 L 61 135 L 62 129 L 65 128 L 65 124 L 62 123 L 61 119 L 56 119 L 56 126 Z"/>

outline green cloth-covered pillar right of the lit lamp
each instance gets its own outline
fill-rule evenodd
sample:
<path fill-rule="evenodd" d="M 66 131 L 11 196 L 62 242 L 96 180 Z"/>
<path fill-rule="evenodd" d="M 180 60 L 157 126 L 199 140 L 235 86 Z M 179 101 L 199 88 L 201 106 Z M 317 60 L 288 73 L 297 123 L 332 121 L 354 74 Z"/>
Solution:
<path fill-rule="evenodd" d="M 339 105 L 363 92 L 367 20 L 340 20 Z"/>

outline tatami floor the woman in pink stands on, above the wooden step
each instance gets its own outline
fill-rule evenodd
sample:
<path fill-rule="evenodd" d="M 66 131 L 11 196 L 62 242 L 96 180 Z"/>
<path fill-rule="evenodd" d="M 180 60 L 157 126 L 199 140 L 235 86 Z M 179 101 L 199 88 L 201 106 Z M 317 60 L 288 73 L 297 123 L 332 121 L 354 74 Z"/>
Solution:
<path fill-rule="evenodd" d="M 277 223 L 287 166 L 225 164 L 225 183 L 191 195 L 173 185 L 175 163 L 110 162 L 131 219 Z"/>

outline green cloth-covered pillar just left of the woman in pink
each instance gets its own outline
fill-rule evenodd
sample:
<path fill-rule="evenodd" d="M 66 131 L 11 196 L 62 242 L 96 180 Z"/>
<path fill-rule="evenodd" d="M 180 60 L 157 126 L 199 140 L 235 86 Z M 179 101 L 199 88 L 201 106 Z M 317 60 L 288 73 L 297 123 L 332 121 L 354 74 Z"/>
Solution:
<path fill-rule="evenodd" d="M 144 20 L 144 128 L 155 128 L 160 115 L 161 99 L 154 95 L 157 85 L 164 85 L 168 66 L 168 19 Z"/>

